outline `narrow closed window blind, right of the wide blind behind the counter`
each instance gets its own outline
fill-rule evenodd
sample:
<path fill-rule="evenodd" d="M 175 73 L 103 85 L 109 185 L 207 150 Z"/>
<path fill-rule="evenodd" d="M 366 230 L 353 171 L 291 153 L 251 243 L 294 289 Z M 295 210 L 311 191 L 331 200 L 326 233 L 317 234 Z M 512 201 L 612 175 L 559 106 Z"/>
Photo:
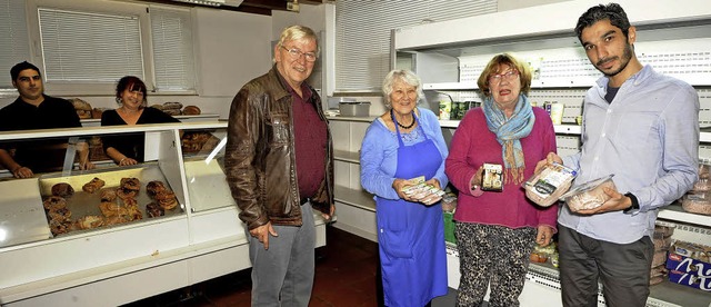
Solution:
<path fill-rule="evenodd" d="M 194 90 L 190 12 L 151 9 L 153 63 L 158 91 Z"/>

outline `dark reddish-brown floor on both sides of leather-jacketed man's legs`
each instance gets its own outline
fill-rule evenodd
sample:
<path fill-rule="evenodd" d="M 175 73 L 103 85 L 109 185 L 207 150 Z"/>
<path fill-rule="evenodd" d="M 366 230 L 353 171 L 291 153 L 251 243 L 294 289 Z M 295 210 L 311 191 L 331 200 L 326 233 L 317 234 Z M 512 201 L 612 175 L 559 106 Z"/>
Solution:
<path fill-rule="evenodd" d="M 379 306 L 378 244 L 327 227 L 327 245 L 316 250 L 316 280 L 310 307 Z M 250 306 L 250 269 L 126 305 L 127 307 Z"/>

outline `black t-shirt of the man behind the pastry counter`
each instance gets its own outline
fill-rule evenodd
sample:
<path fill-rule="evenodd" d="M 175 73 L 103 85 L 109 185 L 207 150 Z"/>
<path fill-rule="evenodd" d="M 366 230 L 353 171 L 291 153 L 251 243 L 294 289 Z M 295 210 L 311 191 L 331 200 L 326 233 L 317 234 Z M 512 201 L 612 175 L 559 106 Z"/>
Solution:
<path fill-rule="evenodd" d="M 81 127 L 71 102 L 44 96 L 39 106 L 21 98 L 0 109 L 0 131 Z M 67 138 L 28 139 L 0 143 L 8 151 L 14 149 L 14 160 L 33 172 L 60 170 L 67 154 Z"/>

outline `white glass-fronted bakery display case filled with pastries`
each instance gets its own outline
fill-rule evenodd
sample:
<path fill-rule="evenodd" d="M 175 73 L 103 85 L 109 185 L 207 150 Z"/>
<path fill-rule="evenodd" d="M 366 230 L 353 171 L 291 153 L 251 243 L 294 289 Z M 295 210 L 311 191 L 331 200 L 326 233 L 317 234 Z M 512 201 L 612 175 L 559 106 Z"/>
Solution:
<path fill-rule="evenodd" d="M 143 162 L 103 154 L 102 139 L 136 133 Z M 11 155 L 58 143 L 54 168 L 21 179 L 0 170 L 0 305 L 118 306 L 249 268 L 226 137 L 217 120 L 0 132 Z M 83 157 L 96 168 L 81 170 Z"/>

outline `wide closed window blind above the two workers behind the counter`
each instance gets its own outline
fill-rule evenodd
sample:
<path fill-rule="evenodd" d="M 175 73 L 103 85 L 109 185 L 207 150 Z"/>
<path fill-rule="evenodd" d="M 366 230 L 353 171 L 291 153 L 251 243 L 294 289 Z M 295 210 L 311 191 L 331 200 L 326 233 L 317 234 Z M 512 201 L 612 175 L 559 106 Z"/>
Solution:
<path fill-rule="evenodd" d="M 144 79 L 137 16 L 39 9 L 47 82 Z"/>

